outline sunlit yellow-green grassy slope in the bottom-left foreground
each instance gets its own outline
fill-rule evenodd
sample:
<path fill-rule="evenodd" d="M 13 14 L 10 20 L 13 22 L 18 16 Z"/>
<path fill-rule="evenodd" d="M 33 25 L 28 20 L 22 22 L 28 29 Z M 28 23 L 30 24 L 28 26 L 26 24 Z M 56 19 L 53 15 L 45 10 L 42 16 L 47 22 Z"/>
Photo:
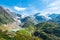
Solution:
<path fill-rule="evenodd" d="M 9 32 L 0 30 L 0 40 L 41 40 L 31 36 L 26 30 Z"/>

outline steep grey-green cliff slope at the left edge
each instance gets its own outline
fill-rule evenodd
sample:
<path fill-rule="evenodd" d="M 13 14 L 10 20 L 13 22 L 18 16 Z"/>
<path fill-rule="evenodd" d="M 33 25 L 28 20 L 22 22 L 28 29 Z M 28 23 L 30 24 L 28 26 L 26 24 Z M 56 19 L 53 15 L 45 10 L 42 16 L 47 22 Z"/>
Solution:
<path fill-rule="evenodd" d="M 0 6 L 0 24 L 7 24 L 12 21 L 12 16 L 3 7 Z"/>

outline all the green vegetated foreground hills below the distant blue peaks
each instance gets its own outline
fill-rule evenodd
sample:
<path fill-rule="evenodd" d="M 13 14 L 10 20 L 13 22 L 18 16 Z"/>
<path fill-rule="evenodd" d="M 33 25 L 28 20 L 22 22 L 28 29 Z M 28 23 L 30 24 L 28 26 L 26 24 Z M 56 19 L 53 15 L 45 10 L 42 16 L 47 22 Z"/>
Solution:
<path fill-rule="evenodd" d="M 6 29 L 0 26 L 1 40 L 60 40 L 59 25 L 53 22 L 43 22 L 37 25 L 27 22 L 22 30 L 16 32 L 3 31 Z"/>

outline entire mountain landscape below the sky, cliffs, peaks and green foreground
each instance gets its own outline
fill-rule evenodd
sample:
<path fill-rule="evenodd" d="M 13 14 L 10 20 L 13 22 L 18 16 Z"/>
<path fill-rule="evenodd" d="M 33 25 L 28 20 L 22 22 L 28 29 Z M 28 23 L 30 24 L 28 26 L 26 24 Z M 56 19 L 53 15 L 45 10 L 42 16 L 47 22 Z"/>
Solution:
<path fill-rule="evenodd" d="M 16 14 L 0 6 L 1 40 L 3 40 L 2 38 L 6 40 L 31 40 L 31 37 L 38 38 L 38 40 L 60 40 L 60 14 L 52 13 L 48 17 L 51 19 L 47 20 L 45 16 L 36 13 L 22 18 L 21 14 Z M 2 31 L 4 29 L 8 31 Z"/>

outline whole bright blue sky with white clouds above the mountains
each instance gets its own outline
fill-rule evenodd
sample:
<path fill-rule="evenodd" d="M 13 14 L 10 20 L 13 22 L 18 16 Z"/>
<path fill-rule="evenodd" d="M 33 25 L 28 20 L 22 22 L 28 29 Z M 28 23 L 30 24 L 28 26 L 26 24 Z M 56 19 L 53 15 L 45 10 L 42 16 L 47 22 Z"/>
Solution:
<path fill-rule="evenodd" d="M 22 15 L 60 14 L 60 0 L 0 0 L 0 6 Z"/>

